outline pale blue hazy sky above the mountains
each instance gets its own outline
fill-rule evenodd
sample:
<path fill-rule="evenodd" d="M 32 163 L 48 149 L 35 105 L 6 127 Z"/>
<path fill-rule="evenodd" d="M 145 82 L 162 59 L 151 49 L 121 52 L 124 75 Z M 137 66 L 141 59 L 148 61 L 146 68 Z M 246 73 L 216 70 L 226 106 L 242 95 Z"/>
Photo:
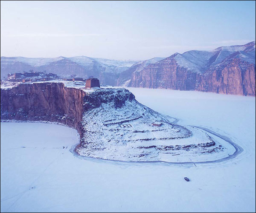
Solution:
<path fill-rule="evenodd" d="M 168 57 L 255 40 L 255 1 L 1 1 L 1 56 Z"/>

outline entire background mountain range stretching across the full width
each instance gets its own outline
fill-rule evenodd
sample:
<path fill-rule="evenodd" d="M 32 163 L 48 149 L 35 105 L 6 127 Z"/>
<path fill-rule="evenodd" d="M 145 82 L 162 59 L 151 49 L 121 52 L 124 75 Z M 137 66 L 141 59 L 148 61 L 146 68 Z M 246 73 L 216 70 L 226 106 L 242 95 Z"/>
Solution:
<path fill-rule="evenodd" d="M 167 58 L 144 61 L 103 58 L 1 57 L 1 79 L 8 73 L 52 72 L 99 78 L 103 84 L 177 90 L 197 90 L 255 96 L 255 41 L 244 45 L 221 46 L 210 51 L 191 50 Z"/>

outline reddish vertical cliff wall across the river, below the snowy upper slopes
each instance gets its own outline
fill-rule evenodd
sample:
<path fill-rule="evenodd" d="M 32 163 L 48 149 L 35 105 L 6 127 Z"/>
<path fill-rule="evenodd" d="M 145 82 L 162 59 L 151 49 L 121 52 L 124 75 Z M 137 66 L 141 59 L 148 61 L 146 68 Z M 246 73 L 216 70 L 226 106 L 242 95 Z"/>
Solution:
<path fill-rule="evenodd" d="M 133 72 L 128 86 L 255 96 L 255 64 L 234 58 L 200 73 L 169 58 Z"/>

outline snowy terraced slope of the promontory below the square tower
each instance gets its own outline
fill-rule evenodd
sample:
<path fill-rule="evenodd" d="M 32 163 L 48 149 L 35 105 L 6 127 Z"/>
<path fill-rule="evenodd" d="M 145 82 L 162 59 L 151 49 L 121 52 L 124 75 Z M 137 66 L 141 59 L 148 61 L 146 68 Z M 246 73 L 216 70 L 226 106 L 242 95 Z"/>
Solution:
<path fill-rule="evenodd" d="M 108 93 L 105 93 L 108 92 Z M 87 92 L 84 90 L 84 92 Z M 84 112 L 84 136 L 76 152 L 82 156 L 120 161 L 210 161 L 235 152 L 220 138 L 212 138 L 195 127 L 182 127 L 166 115 L 140 104 L 126 89 L 90 91 L 102 100 L 100 107 Z M 121 97 L 130 97 L 120 104 Z M 90 104 L 89 102 L 85 102 Z M 162 123 L 160 127 L 153 123 Z M 190 159 L 190 160 L 189 160 Z"/>

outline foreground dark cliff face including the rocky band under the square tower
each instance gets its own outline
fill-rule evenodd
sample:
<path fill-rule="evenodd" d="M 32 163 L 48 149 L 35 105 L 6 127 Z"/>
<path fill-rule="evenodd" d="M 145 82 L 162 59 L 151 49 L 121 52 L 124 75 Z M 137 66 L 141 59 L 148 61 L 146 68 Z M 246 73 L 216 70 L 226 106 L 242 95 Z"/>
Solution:
<path fill-rule="evenodd" d="M 119 108 L 134 98 L 127 89 L 84 92 L 64 83 L 21 83 L 11 89 L 1 88 L 1 120 L 58 122 L 76 128 L 82 137 L 86 110 L 110 102 Z"/>

